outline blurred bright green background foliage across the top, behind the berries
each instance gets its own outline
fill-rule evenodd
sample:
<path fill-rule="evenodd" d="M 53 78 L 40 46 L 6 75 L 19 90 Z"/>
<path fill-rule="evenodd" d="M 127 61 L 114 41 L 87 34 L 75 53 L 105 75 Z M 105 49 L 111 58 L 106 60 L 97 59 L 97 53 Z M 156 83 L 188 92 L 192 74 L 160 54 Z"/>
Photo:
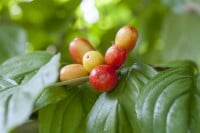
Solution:
<path fill-rule="evenodd" d="M 48 50 L 71 63 L 68 44 L 77 36 L 104 54 L 123 25 L 139 31 L 127 64 L 190 59 L 200 66 L 200 0 L 1 0 L 0 62 Z"/>

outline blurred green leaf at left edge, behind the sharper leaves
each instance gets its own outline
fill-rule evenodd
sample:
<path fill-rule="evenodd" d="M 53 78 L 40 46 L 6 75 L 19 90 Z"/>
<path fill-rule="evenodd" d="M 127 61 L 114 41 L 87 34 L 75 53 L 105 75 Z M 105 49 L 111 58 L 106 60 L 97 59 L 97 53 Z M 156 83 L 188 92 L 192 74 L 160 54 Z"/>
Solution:
<path fill-rule="evenodd" d="M 0 24 L 0 63 L 25 53 L 25 31 L 15 25 Z"/>

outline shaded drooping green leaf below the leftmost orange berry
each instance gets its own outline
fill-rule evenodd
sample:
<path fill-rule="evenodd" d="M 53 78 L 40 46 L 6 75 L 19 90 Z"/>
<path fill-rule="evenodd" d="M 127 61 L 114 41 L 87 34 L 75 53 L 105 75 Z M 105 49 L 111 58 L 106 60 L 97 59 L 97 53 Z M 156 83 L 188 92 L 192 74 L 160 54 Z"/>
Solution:
<path fill-rule="evenodd" d="M 65 99 L 39 111 L 40 133 L 86 132 L 87 114 L 95 103 L 98 93 L 88 84 L 65 89 L 67 89 Z"/>

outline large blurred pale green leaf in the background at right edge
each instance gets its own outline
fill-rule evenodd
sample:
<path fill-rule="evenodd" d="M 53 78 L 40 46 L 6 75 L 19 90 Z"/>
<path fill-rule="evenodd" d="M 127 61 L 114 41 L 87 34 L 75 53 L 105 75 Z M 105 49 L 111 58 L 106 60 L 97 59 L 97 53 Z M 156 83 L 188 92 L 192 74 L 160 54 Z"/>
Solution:
<path fill-rule="evenodd" d="M 161 58 L 165 61 L 188 59 L 200 65 L 199 22 L 200 18 L 191 14 L 167 16 L 161 33 Z"/>

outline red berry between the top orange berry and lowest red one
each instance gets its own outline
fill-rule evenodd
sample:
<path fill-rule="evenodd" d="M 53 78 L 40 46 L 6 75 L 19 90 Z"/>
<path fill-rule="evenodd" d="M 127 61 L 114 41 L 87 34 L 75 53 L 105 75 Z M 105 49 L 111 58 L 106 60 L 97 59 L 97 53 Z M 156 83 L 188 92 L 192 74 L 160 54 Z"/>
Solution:
<path fill-rule="evenodd" d="M 119 68 L 126 60 L 126 50 L 120 46 L 112 45 L 105 54 L 105 62 L 113 68 Z"/>

